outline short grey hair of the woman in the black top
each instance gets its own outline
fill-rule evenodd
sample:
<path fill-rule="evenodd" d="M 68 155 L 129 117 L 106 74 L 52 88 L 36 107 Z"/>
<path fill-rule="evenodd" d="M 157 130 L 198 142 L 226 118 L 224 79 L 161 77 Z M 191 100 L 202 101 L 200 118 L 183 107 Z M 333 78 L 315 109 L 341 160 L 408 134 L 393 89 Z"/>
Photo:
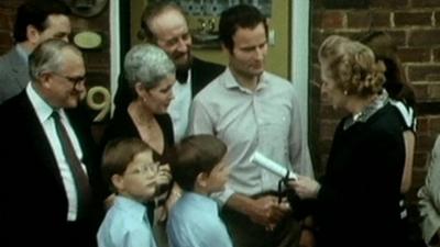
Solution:
<path fill-rule="evenodd" d="M 151 89 L 164 78 L 175 75 L 176 67 L 160 47 L 140 44 L 133 46 L 125 55 L 124 70 L 130 88 L 134 89 L 134 86 L 140 82 L 146 89 Z"/>

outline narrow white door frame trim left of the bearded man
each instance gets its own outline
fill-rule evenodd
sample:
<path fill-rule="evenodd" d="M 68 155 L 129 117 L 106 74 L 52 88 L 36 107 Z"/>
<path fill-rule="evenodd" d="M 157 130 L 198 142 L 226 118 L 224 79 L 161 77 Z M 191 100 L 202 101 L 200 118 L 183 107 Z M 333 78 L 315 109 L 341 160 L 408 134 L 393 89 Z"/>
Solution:
<path fill-rule="evenodd" d="M 110 3 L 110 90 L 111 90 L 111 115 L 114 105 L 113 98 L 118 88 L 118 77 L 121 68 L 121 43 L 120 43 L 120 14 L 119 1 Z"/>

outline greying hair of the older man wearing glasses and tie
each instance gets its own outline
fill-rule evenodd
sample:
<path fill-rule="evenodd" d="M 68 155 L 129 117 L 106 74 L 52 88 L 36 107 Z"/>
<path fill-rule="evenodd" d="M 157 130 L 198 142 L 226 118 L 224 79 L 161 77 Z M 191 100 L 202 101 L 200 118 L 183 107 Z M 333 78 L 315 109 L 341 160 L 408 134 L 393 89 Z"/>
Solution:
<path fill-rule="evenodd" d="M 58 38 L 51 38 L 41 43 L 29 56 L 29 74 L 32 81 L 45 72 L 58 72 L 64 65 L 62 50 L 70 49 L 82 57 L 81 52 L 73 44 Z"/>

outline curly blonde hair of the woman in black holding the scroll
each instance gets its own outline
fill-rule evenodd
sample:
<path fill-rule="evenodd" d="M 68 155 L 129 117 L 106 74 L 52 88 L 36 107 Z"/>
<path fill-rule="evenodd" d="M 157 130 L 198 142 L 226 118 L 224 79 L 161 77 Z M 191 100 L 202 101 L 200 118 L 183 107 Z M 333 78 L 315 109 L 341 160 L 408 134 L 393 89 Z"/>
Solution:
<path fill-rule="evenodd" d="M 374 53 L 348 37 L 331 35 L 318 52 L 321 70 L 336 81 L 344 94 L 366 98 L 382 92 L 385 65 Z"/>

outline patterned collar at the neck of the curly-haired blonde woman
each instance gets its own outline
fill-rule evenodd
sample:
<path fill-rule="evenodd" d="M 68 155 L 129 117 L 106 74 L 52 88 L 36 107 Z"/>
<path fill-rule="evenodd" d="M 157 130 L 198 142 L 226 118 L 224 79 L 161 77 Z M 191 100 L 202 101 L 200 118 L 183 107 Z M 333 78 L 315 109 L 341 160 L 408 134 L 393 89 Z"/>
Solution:
<path fill-rule="evenodd" d="M 382 90 L 381 94 L 369 105 L 366 105 L 360 113 L 351 115 L 344 122 L 344 130 L 351 127 L 356 122 L 365 123 L 374 113 L 381 110 L 386 103 L 388 103 L 389 97 L 386 90 Z"/>

